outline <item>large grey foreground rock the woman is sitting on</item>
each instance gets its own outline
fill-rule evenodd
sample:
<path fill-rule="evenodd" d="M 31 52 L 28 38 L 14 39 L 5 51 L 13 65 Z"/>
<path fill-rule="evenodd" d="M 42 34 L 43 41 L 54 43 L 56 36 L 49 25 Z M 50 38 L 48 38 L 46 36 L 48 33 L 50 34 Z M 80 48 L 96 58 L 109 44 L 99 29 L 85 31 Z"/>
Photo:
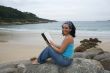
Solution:
<path fill-rule="evenodd" d="M 26 61 L 27 62 L 27 61 Z M 10 68 L 10 70 L 9 70 Z M 100 62 L 91 59 L 74 58 L 68 67 L 61 67 L 51 63 L 32 65 L 30 62 L 12 63 L 0 67 L 0 73 L 104 73 Z M 105 72 L 107 73 L 107 71 Z"/>

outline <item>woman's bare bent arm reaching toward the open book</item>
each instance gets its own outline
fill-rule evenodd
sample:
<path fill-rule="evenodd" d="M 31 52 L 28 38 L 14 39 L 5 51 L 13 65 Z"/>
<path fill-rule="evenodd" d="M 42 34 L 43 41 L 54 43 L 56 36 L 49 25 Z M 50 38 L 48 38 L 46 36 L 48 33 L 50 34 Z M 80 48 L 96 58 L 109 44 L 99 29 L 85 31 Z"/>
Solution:
<path fill-rule="evenodd" d="M 59 48 L 53 45 L 52 41 L 50 41 L 50 44 L 55 51 L 57 51 L 58 53 L 62 53 L 65 50 L 65 48 L 68 46 L 68 44 L 70 44 L 71 42 L 73 42 L 73 37 L 67 36 L 65 37 L 62 45 Z"/>

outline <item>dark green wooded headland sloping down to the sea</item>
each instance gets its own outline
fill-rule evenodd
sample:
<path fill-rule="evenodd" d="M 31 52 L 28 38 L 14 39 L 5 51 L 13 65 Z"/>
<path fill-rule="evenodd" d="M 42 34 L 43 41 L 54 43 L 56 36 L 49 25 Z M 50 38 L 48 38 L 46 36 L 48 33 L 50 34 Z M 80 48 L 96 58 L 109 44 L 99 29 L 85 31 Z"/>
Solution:
<path fill-rule="evenodd" d="M 39 18 L 33 13 L 22 12 L 11 7 L 0 5 L 0 24 L 34 24 L 47 22 L 54 22 L 54 20 Z"/>

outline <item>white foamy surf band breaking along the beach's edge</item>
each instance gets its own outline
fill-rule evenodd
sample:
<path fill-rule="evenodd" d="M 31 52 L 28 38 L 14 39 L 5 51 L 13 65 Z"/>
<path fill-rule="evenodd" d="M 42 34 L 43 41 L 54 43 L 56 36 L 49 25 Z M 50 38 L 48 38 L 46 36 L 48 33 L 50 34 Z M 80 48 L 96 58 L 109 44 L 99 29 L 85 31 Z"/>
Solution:
<path fill-rule="evenodd" d="M 61 34 L 62 30 L 47 30 L 47 29 L 14 29 L 14 28 L 0 28 L 0 31 L 8 31 L 8 32 L 35 32 L 35 33 L 42 33 L 42 32 L 49 32 L 55 34 Z M 76 36 L 110 36 L 110 31 L 87 31 L 87 30 L 77 30 Z"/>

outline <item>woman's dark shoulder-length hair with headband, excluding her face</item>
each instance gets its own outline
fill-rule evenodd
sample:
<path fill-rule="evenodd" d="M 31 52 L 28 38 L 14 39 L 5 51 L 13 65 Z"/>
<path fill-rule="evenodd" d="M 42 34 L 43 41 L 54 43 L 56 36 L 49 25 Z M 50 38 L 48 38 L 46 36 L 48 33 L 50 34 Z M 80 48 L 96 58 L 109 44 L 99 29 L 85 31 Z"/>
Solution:
<path fill-rule="evenodd" d="M 72 37 L 75 37 L 76 28 L 75 28 L 73 22 L 72 22 L 72 21 L 66 21 L 66 22 L 64 22 L 63 24 L 67 24 L 67 25 L 69 26 L 69 28 L 71 29 L 70 35 L 71 35 Z M 62 27 L 63 27 L 63 25 L 62 25 Z M 62 34 L 64 35 L 63 31 L 62 31 Z"/>

